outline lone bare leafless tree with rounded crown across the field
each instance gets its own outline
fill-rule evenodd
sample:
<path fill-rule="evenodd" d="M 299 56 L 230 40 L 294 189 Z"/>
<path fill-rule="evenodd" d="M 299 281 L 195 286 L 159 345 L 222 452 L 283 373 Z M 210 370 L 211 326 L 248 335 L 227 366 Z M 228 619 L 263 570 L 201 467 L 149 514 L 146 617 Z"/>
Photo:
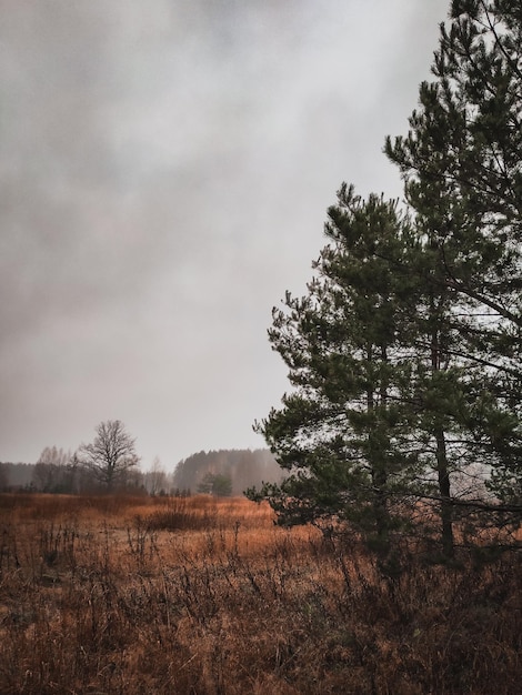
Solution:
<path fill-rule="evenodd" d="M 134 450 L 135 440 L 119 420 L 101 422 L 91 444 L 82 444 L 78 450 L 79 459 L 96 480 L 113 490 L 140 461 Z"/>

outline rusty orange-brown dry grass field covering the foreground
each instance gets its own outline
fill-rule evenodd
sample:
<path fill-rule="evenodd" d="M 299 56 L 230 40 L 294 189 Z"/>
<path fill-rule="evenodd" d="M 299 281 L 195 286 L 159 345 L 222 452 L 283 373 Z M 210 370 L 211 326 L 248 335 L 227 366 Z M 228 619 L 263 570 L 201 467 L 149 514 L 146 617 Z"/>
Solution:
<path fill-rule="evenodd" d="M 0 496 L 0 693 L 515 695 L 520 560 L 402 558 L 247 500 Z"/>

